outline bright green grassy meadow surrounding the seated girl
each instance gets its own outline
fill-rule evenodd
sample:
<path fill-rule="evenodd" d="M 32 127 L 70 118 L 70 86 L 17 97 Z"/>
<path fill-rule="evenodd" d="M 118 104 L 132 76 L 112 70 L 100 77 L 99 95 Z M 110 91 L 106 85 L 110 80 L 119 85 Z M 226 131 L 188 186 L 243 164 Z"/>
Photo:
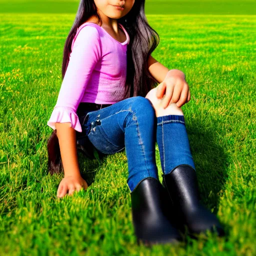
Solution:
<path fill-rule="evenodd" d="M 137 245 L 124 151 L 100 164 L 79 154 L 90 186 L 56 197 L 63 175 L 47 173 L 46 122 L 78 1 L 0 0 L 0 255 L 256 254 L 256 2 L 146 2 L 160 36 L 152 56 L 186 74 L 182 110 L 199 190 L 226 236 Z"/>

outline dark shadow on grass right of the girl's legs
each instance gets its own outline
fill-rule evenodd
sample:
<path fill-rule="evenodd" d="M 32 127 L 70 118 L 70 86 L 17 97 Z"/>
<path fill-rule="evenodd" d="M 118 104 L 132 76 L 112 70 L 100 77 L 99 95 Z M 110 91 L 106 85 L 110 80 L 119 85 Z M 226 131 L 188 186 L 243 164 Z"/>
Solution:
<path fill-rule="evenodd" d="M 186 128 L 202 202 L 216 214 L 219 197 L 224 191 L 223 187 L 228 176 L 229 163 L 228 155 L 216 136 L 221 132 L 215 125 L 218 121 L 212 120 L 212 116 L 210 118 L 211 126 L 206 126 L 200 117 L 190 117 Z"/>

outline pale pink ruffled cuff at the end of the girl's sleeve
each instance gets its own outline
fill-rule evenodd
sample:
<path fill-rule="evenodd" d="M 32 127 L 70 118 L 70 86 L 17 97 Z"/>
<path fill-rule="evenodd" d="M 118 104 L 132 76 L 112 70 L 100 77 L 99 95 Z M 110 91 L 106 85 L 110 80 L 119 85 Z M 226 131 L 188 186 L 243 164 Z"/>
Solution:
<path fill-rule="evenodd" d="M 82 132 L 81 124 L 79 118 L 74 110 L 70 107 L 65 106 L 55 106 L 51 113 L 47 125 L 50 126 L 53 130 L 56 129 L 56 122 L 70 122 L 71 127 L 75 130 Z"/>

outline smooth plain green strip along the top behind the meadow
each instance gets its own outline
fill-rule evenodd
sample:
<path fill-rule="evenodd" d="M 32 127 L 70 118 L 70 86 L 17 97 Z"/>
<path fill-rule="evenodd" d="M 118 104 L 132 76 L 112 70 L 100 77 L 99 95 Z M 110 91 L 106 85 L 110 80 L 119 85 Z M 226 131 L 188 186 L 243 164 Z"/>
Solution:
<path fill-rule="evenodd" d="M 79 0 L 0 0 L 0 12 L 75 13 Z M 256 14 L 255 0 L 145 0 L 146 14 Z"/>

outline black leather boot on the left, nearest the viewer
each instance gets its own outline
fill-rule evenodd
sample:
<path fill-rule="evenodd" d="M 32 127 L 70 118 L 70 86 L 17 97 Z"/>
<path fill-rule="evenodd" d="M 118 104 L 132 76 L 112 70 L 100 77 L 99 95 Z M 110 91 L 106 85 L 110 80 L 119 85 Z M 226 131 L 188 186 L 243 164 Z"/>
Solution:
<path fill-rule="evenodd" d="M 132 220 L 137 241 L 144 244 L 177 242 L 178 230 L 168 220 L 167 194 L 159 180 L 148 177 L 141 180 L 130 193 Z"/>

